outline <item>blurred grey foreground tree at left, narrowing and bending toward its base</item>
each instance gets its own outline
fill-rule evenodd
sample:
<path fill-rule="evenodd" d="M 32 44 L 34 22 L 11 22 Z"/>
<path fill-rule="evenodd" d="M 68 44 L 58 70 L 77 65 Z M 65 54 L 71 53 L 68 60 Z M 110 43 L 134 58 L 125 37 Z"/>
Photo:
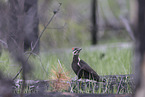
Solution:
<path fill-rule="evenodd" d="M 24 35 L 25 35 L 25 13 L 24 13 L 25 0 L 9 0 L 8 6 L 8 33 L 7 43 L 8 50 L 11 52 L 11 56 L 16 62 L 21 64 L 22 71 L 22 91 L 23 95 L 26 74 L 30 72 L 30 65 L 24 56 Z"/>

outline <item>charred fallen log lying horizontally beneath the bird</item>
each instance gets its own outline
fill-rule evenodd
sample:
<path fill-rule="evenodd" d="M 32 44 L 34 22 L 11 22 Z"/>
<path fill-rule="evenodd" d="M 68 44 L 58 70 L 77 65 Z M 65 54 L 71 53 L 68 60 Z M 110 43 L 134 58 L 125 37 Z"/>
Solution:
<path fill-rule="evenodd" d="M 93 94 L 128 94 L 132 93 L 132 75 L 106 75 L 100 76 L 101 82 L 93 80 L 26 80 L 25 93 L 43 92 L 69 92 L 69 93 L 93 93 Z M 20 93 L 23 80 L 16 80 L 14 93 Z M 61 88 L 62 87 L 62 88 Z M 65 88 L 64 88 L 65 87 Z"/>

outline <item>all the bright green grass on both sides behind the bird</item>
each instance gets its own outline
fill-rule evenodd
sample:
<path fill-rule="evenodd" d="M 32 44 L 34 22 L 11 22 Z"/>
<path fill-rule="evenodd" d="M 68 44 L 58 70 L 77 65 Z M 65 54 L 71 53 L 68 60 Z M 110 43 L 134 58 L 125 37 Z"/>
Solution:
<path fill-rule="evenodd" d="M 104 53 L 105 56 L 100 59 L 102 53 Z M 42 52 L 39 56 L 32 56 L 30 61 L 33 63 L 33 70 L 28 79 L 50 79 L 52 67 L 58 66 L 58 60 L 60 60 L 63 69 L 73 78 L 76 75 L 71 69 L 72 57 L 71 49 L 59 52 Z M 80 58 L 86 61 L 99 75 L 131 73 L 131 49 L 111 48 L 106 51 L 98 50 L 97 48 L 92 51 L 91 49 L 83 49 L 80 53 Z M 9 54 L 4 51 L 0 57 L 0 70 L 4 72 L 6 76 L 14 77 L 19 69 L 20 65 L 13 62 Z M 20 78 L 20 76 L 18 78 Z"/>

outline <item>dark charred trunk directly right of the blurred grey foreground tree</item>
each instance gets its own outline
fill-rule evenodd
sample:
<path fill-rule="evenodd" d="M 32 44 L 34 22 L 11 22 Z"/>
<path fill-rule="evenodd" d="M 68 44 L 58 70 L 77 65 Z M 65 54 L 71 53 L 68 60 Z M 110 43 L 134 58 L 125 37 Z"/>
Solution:
<path fill-rule="evenodd" d="M 24 50 L 34 49 L 34 53 L 39 53 L 39 42 L 34 47 L 39 37 L 39 19 L 37 15 L 37 2 L 38 0 L 25 0 L 25 38 L 24 38 Z"/>

